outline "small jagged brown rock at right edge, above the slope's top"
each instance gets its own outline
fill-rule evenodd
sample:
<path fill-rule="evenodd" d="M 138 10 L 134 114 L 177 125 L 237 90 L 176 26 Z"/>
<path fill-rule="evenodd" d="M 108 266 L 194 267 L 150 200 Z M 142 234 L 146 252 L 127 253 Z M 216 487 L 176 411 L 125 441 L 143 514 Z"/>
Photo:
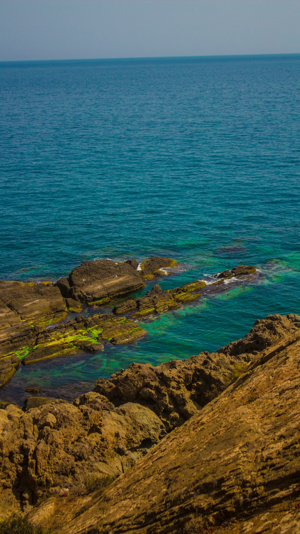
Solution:
<path fill-rule="evenodd" d="M 240 354 L 256 354 L 284 336 L 293 334 L 300 326 L 300 316 L 290 315 L 267 315 L 264 319 L 255 321 L 249 334 L 238 341 L 233 341 L 217 352 L 228 356 Z"/>

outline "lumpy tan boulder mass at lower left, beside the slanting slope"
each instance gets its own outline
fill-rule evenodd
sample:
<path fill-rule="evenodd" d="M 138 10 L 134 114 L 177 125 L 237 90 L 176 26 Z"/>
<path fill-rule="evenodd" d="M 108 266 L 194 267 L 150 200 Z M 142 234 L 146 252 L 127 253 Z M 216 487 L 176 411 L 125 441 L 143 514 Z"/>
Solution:
<path fill-rule="evenodd" d="M 84 488 L 90 475 L 118 476 L 164 435 L 146 407 L 115 408 L 96 393 L 23 412 L 0 409 L 0 515 L 56 488 Z"/>

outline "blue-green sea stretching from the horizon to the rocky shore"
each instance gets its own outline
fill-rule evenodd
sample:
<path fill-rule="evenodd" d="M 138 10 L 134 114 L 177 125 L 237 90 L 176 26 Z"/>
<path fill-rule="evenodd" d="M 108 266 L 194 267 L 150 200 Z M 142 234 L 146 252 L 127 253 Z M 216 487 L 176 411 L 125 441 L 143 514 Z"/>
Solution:
<path fill-rule="evenodd" d="M 151 255 L 180 262 L 163 288 L 241 263 L 263 275 L 140 321 L 138 343 L 20 366 L 2 399 L 73 398 L 300 313 L 299 73 L 297 54 L 0 64 L 1 279 Z"/>

